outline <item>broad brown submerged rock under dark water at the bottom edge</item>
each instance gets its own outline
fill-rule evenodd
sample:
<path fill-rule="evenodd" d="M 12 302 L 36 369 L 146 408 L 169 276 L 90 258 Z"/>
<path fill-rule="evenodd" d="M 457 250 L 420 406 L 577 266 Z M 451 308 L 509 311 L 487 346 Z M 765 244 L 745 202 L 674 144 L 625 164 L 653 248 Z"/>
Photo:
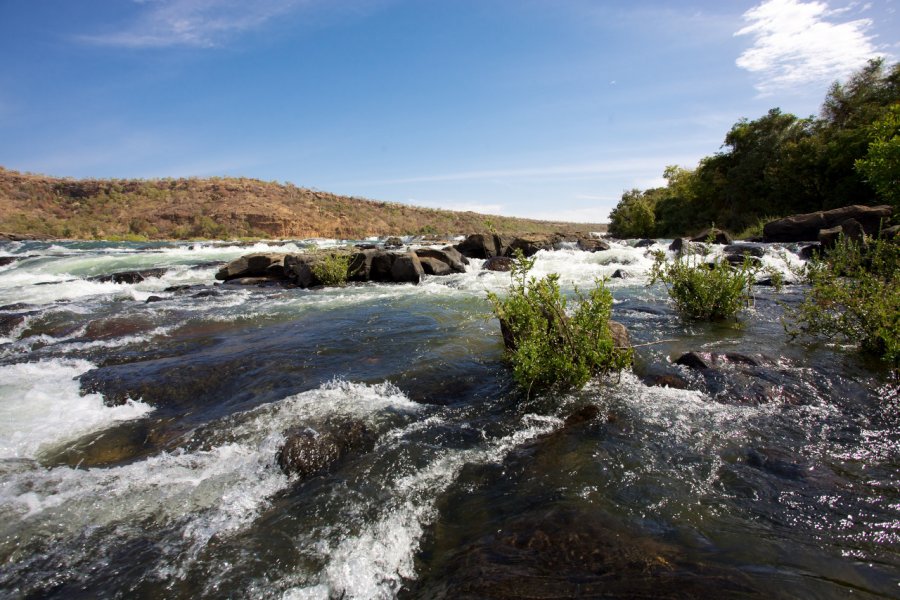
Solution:
<path fill-rule="evenodd" d="M 493 524 L 492 524 L 493 525 Z M 533 509 L 462 544 L 422 581 L 434 599 L 745 598 L 750 579 L 582 508 Z"/>

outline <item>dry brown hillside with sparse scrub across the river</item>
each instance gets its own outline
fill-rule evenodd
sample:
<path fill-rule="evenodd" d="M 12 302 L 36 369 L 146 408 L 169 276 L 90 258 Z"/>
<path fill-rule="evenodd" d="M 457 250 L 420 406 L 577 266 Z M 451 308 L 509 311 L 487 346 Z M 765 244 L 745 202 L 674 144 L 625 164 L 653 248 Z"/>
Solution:
<path fill-rule="evenodd" d="M 63 179 L 0 167 L 0 232 L 60 238 L 363 238 L 601 231 L 337 196 L 246 178 Z"/>

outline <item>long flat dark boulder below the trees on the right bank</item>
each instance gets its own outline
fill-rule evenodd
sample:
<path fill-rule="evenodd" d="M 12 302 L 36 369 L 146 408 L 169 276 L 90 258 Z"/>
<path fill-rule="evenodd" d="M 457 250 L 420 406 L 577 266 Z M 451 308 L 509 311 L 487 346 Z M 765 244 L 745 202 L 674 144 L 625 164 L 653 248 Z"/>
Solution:
<path fill-rule="evenodd" d="M 879 227 L 891 218 L 892 209 L 888 205 L 852 205 L 834 210 L 792 215 L 777 221 L 770 221 L 763 227 L 766 242 L 813 242 L 818 241 L 819 232 L 832 229 L 849 220 L 859 223 L 867 235 L 878 233 Z M 850 225 L 852 227 L 852 225 Z"/>

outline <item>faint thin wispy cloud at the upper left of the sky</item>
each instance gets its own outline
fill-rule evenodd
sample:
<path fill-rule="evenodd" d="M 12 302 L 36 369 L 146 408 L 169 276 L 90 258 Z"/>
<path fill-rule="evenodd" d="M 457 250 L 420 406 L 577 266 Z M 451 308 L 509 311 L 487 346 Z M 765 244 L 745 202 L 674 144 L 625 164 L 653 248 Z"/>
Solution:
<path fill-rule="evenodd" d="M 133 0 L 134 21 L 85 42 L 129 48 L 217 46 L 311 0 Z"/>

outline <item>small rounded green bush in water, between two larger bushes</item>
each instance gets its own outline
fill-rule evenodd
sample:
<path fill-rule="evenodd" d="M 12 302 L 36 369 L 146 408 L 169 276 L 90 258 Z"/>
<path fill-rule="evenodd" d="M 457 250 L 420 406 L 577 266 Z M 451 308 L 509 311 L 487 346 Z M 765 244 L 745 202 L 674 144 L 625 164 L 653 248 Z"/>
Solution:
<path fill-rule="evenodd" d="M 662 281 L 684 317 L 719 321 L 734 317 L 749 305 L 750 286 L 757 272 L 749 256 L 742 264 L 733 266 L 724 258 L 713 263 L 701 262 L 690 251 L 667 261 L 665 253 L 660 251 L 650 270 L 650 284 Z"/>

